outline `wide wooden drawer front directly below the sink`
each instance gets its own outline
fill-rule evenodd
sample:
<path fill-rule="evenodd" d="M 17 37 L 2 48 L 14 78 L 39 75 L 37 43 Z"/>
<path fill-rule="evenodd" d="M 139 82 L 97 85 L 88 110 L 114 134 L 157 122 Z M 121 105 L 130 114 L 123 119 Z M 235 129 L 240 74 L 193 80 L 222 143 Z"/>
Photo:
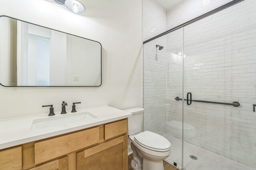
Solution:
<path fill-rule="evenodd" d="M 35 164 L 40 164 L 99 142 L 99 127 L 35 143 Z"/>

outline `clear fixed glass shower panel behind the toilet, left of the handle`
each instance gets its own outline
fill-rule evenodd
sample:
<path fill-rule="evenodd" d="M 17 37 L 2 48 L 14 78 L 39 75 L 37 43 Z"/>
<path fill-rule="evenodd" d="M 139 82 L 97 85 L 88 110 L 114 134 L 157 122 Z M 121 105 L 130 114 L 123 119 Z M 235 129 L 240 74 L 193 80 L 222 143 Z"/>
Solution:
<path fill-rule="evenodd" d="M 159 49 L 156 45 L 163 48 Z M 182 47 L 183 30 L 144 44 L 143 107 L 144 131 L 164 136 L 171 143 L 166 161 L 182 167 Z"/>

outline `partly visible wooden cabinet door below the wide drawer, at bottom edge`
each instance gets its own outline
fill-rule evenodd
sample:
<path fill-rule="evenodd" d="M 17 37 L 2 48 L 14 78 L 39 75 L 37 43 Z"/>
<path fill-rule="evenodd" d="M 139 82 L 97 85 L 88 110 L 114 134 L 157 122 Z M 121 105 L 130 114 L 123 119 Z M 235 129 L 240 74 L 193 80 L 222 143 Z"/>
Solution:
<path fill-rule="evenodd" d="M 29 170 L 68 170 L 68 157 L 56 159 Z"/>

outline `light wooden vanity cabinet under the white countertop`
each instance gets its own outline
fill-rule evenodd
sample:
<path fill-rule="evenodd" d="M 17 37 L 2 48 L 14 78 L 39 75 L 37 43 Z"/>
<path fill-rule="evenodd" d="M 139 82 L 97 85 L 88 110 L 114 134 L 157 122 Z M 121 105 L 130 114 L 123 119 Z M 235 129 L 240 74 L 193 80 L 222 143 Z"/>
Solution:
<path fill-rule="evenodd" d="M 0 150 L 1 170 L 127 170 L 128 119 Z"/>

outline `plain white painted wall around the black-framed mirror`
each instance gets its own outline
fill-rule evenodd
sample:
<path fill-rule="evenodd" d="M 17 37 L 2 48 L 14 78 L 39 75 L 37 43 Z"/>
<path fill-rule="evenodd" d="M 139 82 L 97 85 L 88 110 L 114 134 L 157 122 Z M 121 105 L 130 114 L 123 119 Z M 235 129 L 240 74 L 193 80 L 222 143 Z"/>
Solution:
<path fill-rule="evenodd" d="M 138 0 L 82 0 L 84 16 L 46 0 L 1 0 L 7 15 L 86 37 L 102 44 L 100 87 L 0 87 L 0 118 L 48 113 L 44 104 L 60 111 L 62 101 L 71 109 L 108 105 L 120 109 L 142 107 L 142 2 Z M 12 6 L 12 10 L 10 7 Z"/>

